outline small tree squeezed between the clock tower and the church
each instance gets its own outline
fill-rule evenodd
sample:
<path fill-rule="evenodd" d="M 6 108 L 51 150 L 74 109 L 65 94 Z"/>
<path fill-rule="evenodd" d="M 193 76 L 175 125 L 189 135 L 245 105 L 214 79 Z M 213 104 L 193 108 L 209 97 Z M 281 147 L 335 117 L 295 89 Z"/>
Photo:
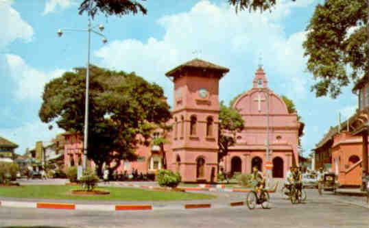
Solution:
<path fill-rule="evenodd" d="M 236 143 L 236 134 L 244 128 L 244 121 L 238 110 L 234 107 L 227 107 L 223 102 L 220 103 L 219 112 L 219 156 L 218 160 L 226 156 L 228 148 Z"/>

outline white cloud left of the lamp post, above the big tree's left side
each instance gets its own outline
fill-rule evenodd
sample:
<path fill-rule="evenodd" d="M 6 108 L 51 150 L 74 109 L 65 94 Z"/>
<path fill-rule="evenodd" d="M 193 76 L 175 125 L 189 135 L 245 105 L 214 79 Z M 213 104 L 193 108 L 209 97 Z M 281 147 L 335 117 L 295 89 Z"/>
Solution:
<path fill-rule="evenodd" d="M 8 64 L 10 77 L 16 81 L 18 87 L 14 90 L 14 96 L 17 99 L 40 99 L 45 84 L 64 73 L 62 69 L 56 69 L 49 73 L 38 71 L 28 66 L 19 55 L 7 54 L 5 60 Z"/>

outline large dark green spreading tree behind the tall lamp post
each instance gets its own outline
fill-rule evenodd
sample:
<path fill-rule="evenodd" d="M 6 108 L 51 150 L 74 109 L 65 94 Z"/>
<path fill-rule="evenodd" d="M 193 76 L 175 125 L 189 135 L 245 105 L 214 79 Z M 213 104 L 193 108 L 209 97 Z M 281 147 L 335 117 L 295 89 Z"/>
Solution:
<path fill-rule="evenodd" d="M 41 121 L 56 121 L 65 131 L 83 132 L 85 73 L 86 68 L 75 68 L 46 84 Z M 104 163 L 114 163 L 111 170 L 115 170 L 121 160 L 135 160 L 136 145 L 150 144 L 152 130 L 171 114 L 163 89 L 135 73 L 91 66 L 90 74 L 87 157 L 101 175 Z"/>

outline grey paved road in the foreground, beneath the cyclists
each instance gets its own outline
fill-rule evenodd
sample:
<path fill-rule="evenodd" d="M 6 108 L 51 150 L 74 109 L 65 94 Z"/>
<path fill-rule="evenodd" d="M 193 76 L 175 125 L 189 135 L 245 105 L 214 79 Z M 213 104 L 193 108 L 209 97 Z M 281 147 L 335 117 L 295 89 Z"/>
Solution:
<path fill-rule="evenodd" d="M 306 203 L 292 205 L 272 194 L 271 209 L 247 207 L 137 212 L 85 212 L 0 207 L 0 227 L 369 227 L 368 208 L 348 202 L 364 201 L 308 190 Z"/>

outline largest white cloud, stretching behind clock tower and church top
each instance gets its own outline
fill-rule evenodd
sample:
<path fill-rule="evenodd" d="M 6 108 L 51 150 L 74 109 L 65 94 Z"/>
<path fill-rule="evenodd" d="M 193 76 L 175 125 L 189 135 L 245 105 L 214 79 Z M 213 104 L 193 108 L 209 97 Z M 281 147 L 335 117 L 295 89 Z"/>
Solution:
<path fill-rule="evenodd" d="M 281 1 L 270 14 L 265 12 L 239 12 L 228 4 L 215 5 L 210 1 L 196 3 L 189 12 L 163 16 L 158 24 L 165 29 L 163 38 L 140 40 L 115 40 L 102 47 L 95 55 L 102 65 L 124 71 L 136 71 L 149 81 L 156 81 L 165 88 L 171 99 L 171 82 L 165 78 L 165 71 L 195 58 L 194 50 L 201 50 L 200 58 L 230 68 L 230 73 L 220 85 L 222 94 L 232 97 L 237 90 L 250 88 L 257 68 L 259 53 L 263 64 L 281 75 L 274 79 L 289 86 L 287 96 L 302 99 L 307 89 L 308 79 L 303 75 L 305 60 L 302 58 L 302 42 L 305 32 L 286 37 L 283 20 L 292 8 L 305 7 L 312 0 L 298 4 Z M 246 75 L 246 77 L 245 77 Z M 269 79 L 276 75 L 268 75 Z M 237 91 L 236 90 L 236 91 Z M 241 92 L 241 91 L 239 91 Z M 222 97 L 221 97 L 222 98 Z"/>

